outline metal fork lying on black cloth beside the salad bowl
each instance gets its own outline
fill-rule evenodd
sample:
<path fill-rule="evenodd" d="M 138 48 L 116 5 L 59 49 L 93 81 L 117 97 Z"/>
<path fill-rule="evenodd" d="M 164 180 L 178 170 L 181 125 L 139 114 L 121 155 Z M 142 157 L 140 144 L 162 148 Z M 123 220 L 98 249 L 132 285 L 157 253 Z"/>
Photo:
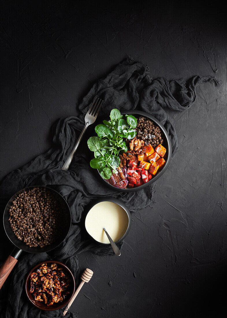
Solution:
<path fill-rule="evenodd" d="M 97 115 L 99 113 L 99 110 L 102 106 L 103 100 L 101 100 L 100 98 L 95 98 L 93 103 L 91 104 L 91 107 L 89 108 L 87 114 L 85 115 L 85 126 L 79 136 L 79 138 L 77 139 L 76 145 L 74 146 L 74 148 L 72 149 L 70 155 L 68 156 L 66 162 L 64 163 L 62 170 L 68 170 L 69 169 L 69 165 L 72 161 L 72 158 L 77 150 L 77 147 L 83 137 L 83 134 L 85 132 L 85 130 L 88 128 L 89 125 L 93 124 L 97 118 Z"/>

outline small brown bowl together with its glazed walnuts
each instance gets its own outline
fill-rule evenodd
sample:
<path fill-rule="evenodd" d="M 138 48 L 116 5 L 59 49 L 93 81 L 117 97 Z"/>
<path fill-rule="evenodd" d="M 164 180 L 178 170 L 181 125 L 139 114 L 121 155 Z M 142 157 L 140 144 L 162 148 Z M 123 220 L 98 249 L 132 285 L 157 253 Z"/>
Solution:
<path fill-rule="evenodd" d="M 47 260 L 33 267 L 25 280 L 30 302 L 42 310 L 57 310 L 68 304 L 75 292 L 75 279 L 61 262 Z"/>

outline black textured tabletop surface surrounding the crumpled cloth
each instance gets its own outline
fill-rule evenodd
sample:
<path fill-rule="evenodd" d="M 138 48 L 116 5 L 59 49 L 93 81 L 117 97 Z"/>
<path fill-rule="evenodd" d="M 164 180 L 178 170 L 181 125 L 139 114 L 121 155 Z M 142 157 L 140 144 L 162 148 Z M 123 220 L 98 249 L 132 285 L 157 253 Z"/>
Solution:
<path fill-rule="evenodd" d="M 79 255 L 94 276 L 81 318 L 226 317 L 224 9 L 206 2 L 4 2 L 0 13 L 1 178 L 51 146 L 92 84 L 127 55 L 150 76 L 216 75 L 184 112 L 167 110 L 179 151 L 154 202 L 133 215 L 122 256 Z M 3 246 L 4 245 L 4 246 Z M 6 255 L 10 244 L 4 242 Z"/>

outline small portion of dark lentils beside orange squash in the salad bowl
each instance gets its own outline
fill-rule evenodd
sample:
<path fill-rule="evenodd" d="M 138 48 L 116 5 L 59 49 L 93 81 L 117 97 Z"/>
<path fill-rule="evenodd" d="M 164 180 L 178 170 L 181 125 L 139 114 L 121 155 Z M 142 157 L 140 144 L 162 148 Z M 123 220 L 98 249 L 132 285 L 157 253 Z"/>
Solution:
<path fill-rule="evenodd" d="M 153 121 L 149 118 L 141 116 L 137 120 L 137 138 L 144 141 L 144 145 L 147 146 L 149 143 L 152 147 L 156 147 L 163 143 L 162 133 L 158 126 L 155 126 Z"/>

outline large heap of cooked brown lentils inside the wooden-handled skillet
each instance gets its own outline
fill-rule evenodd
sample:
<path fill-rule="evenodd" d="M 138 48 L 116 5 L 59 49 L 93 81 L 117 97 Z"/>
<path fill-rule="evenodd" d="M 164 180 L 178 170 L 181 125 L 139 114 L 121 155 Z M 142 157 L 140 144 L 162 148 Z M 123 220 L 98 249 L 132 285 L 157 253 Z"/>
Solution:
<path fill-rule="evenodd" d="M 17 239 L 29 247 L 50 245 L 62 233 L 65 205 L 45 188 L 23 191 L 9 209 L 9 222 Z"/>

